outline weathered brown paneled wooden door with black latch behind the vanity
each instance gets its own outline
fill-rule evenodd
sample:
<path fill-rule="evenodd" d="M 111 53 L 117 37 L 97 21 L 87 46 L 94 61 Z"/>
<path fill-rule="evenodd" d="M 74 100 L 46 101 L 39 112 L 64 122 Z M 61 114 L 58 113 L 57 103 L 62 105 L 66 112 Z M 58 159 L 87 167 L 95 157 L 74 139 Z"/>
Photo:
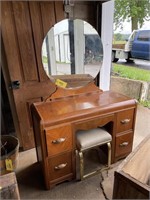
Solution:
<path fill-rule="evenodd" d="M 42 66 L 41 46 L 47 31 L 64 18 L 63 1 L 5 1 L 1 8 L 2 70 L 16 135 L 27 150 L 34 147 L 30 105 L 55 91 Z"/>

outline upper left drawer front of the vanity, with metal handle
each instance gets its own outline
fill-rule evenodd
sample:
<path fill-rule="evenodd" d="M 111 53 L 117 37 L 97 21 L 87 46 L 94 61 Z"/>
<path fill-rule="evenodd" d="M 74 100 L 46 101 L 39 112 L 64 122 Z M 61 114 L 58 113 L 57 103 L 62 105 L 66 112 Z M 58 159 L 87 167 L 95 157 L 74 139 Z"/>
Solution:
<path fill-rule="evenodd" d="M 46 143 L 48 156 L 72 149 L 71 125 L 57 126 L 46 129 Z"/>

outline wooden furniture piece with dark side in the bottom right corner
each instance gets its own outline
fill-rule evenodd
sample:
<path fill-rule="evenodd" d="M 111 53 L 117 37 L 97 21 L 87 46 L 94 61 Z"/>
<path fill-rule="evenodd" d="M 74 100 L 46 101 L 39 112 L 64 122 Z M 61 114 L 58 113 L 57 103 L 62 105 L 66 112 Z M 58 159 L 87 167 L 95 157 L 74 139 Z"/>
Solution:
<path fill-rule="evenodd" d="M 150 198 L 150 136 L 115 171 L 113 199 Z"/>

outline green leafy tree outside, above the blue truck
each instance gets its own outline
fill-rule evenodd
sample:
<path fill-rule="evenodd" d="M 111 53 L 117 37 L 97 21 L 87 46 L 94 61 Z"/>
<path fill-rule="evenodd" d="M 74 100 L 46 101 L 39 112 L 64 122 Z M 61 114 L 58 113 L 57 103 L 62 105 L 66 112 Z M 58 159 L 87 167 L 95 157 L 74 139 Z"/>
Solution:
<path fill-rule="evenodd" d="M 115 0 L 114 24 L 123 28 L 123 22 L 131 21 L 131 30 L 142 27 L 150 20 L 150 0 Z"/>

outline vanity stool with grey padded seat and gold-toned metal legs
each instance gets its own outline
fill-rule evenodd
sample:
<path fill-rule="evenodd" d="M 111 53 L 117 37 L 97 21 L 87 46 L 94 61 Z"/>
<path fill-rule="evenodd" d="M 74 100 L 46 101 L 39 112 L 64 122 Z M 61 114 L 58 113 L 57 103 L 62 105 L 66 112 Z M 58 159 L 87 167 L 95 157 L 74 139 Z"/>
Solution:
<path fill-rule="evenodd" d="M 102 170 L 110 168 L 111 164 L 111 135 L 103 128 L 95 128 L 90 130 L 80 130 L 76 133 L 76 147 L 80 158 L 80 180 L 89 176 L 100 173 Z M 108 163 L 107 166 L 101 167 L 91 173 L 84 174 L 84 158 L 83 153 L 94 147 L 107 144 L 108 147 Z"/>

